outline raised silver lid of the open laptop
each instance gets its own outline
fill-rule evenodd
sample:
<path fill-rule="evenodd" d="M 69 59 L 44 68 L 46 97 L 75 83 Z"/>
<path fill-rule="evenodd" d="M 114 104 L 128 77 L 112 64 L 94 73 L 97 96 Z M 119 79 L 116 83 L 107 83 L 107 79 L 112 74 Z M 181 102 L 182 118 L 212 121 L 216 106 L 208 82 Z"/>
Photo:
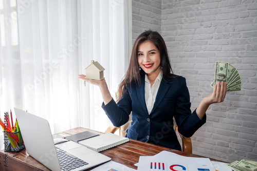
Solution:
<path fill-rule="evenodd" d="M 46 119 L 14 108 L 27 153 L 51 170 L 61 170 Z"/>

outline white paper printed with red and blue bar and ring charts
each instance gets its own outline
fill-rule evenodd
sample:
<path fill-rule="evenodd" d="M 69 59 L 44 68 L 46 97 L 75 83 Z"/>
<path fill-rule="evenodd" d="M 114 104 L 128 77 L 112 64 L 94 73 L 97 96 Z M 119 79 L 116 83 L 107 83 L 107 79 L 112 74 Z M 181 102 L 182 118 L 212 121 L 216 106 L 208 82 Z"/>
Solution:
<path fill-rule="evenodd" d="M 140 156 L 137 170 L 141 171 L 215 171 L 209 158 L 180 156 L 169 151 L 161 151 L 155 156 Z"/>

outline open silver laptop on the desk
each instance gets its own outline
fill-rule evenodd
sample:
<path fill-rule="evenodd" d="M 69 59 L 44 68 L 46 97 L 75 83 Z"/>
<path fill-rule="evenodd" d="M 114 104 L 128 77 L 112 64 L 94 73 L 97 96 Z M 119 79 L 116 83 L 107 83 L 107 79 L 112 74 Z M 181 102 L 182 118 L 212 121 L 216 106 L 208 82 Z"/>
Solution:
<path fill-rule="evenodd" d="M 73 141 L 54 145 L 46 119 L 17 108 L 14 108 L 14 111 L 27 153 L 49 169 L 54 171 L 85 170 L 111 160 L 111 158 Z"/>

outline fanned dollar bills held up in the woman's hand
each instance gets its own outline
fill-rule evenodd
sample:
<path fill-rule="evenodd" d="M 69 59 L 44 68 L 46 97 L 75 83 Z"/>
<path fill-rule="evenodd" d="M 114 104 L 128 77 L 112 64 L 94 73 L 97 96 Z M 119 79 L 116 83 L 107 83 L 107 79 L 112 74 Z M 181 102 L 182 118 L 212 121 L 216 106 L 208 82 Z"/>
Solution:
<path fill-rule="evenodd" d="M 238 71 L 228 62 L 216 62 L 215 77 L 211 86 L 217 82 L 227 82 L 227 92 L 241 91 L 241 77 Z"/>

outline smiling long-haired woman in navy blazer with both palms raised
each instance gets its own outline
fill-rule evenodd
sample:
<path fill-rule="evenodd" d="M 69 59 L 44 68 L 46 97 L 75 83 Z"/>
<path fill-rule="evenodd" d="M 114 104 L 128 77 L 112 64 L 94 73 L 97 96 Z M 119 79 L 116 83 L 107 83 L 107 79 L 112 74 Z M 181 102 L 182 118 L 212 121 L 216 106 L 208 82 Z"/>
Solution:
<path fill-rule="evenodd" d="M 173 129 L 173 117 L 180 134 L 191 137 L 206 122 L 209 105 L 223 102 L 226 95 L 226 83 L 218 82 L 191 113 L 186 79 L 173 74 L 166 44 L 158 32 L 151 30 L 141 33 L 133 45 L 117 104 L 105 80 L 85 79 L 85 75 L 79 75 L 79 79 L 99 86 L 102 108 L 114 126 L 125 124 L 132 111 L 126 137 L 178 150 L 181 147 Z"/>

